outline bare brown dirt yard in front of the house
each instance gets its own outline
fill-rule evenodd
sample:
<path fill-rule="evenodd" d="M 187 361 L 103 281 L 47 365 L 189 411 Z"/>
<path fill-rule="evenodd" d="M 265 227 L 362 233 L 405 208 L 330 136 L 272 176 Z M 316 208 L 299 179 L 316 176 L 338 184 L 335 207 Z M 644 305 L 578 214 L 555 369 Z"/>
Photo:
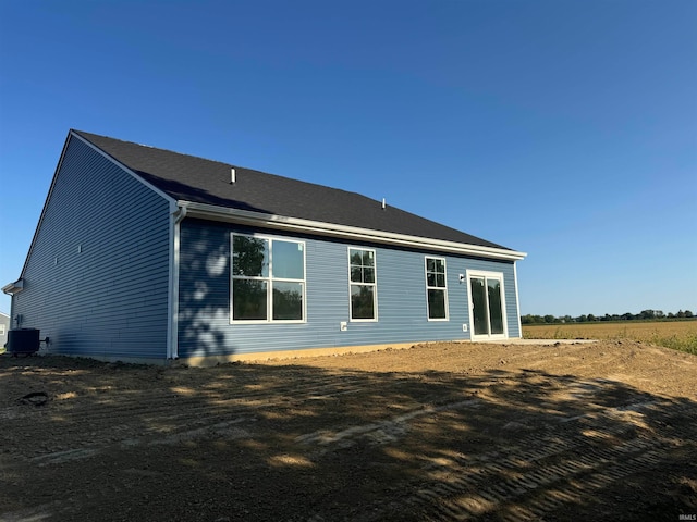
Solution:
<path fill-rule="evenodd" d="M 697 358 L 637 341 L 0 357 L 2 521 L 695 520 L 696 462 Z"/>

